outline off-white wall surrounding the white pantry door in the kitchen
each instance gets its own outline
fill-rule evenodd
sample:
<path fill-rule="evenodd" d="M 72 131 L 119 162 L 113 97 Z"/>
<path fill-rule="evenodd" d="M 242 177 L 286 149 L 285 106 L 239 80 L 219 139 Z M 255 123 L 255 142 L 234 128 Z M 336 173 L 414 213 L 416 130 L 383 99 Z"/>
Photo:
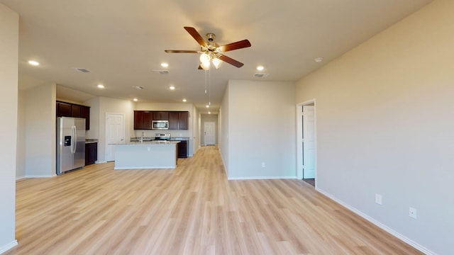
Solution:
<path fill-rule="evenodd" d="M 128 100 L 99 97 L 98 162 L 106 161 L 106 113 L 124 113 L 125 140 L 129 140 L 131 138 L 131 123 L 134 118 L 133 103 Z M 90 114 L 92 113 L 90 112 Z"/>

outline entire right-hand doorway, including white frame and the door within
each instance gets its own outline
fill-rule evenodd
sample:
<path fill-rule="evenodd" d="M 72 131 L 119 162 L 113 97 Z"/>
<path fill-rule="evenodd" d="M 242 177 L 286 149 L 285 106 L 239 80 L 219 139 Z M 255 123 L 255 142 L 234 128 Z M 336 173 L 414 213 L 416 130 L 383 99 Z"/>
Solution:
<path fill-rule="evenodd" d="M 297 104 L 297 177 L 316 186 L 316 102 Z"/>

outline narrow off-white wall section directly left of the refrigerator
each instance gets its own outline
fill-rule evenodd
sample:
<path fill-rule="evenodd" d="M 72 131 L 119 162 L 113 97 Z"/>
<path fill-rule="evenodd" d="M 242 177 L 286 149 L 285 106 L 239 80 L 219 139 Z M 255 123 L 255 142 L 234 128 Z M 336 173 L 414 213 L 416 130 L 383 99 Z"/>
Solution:
<path fill-rule="evenodd" d="M 26 177 L 55 176 L 55 84 L 25 91 Z"/>

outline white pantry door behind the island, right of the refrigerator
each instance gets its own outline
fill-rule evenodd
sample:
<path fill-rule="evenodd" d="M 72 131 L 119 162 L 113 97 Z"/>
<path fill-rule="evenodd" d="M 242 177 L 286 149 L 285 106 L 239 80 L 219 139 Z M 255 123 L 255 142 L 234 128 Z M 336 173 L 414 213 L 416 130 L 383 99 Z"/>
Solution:
<path fill-rule="evenodd" d="M 116 143 L 125 142 L 125 115 L 106 113 L 106 162 L 115 160 Z"/>

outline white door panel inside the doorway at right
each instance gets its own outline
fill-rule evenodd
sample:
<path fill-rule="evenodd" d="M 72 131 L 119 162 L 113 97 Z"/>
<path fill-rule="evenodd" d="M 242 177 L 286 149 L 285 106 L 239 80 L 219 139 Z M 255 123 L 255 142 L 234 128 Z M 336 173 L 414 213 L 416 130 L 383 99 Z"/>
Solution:
<path fill-rule="evenodd" d="M 314 106 L 303 106 L 303 178 L 315 178 L 315 112 Z"/>

